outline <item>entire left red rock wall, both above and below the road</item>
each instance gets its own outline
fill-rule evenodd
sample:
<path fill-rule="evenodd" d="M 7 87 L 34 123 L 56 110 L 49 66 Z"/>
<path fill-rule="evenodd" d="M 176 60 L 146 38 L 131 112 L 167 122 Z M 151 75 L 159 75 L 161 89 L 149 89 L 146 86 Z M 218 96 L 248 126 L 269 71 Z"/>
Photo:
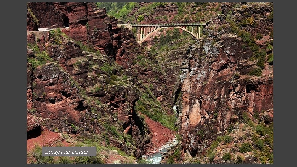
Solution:
<path fill-rule="evenodd" d="M 36 9 L 35 12 L 38 10 L 41 12 L 43 5 L 46 4 L 34 3 L 28 6 Z M 138 45 L 133 34 L 127 32 L 125 28 L 118 28 L 117 20 L 108 18 L 105 9 L 97 9 L 93 3 L 50 3 L 48 5 L 53 7 L 52 10 L 54 13 L 57 12 L 60 18 L 69 18 L 70 28 L 63 32 L 76 41 L 82 41 L 83 44 L 88 41 L 87 44 L 99 51 L 102 50 L 109 56 L 101 55 L 102 57 L 98 58 L 96 54 L 83 52 L 77 43 L 66 38 L 62 38 L 60 46 L 55 45 L 55 42 L 60 39 L 53 37 L 50 32 L 28 32 L 28 43 L 35 44 L 37 41 L 40 51 L 45 50 L 53 61 L 58 62 L 58 64 L 48 63 L 37 69 L 32 69 L 31 64 L 28 64 L 28 110 L 35 111 L 34 115 L 38 117 L 50 120 L 46 122 L 45 128 L 74 134 L 100 134 L 106 129 L 104 130 L 102 123 L 99 125 L 99 122 L 107 121 L 108 124 L 112 122 L 111 125 L 117 125 L 120 121 L 119 127 L 132 136 L 135 147 L 128 147 L 123 144 L 124 141 L 113 137 L 110 137 L 110 142 L 115 147 L 140 157 L 149 147 L 150 140 L 149 130 L 134 111 L 139 95 L 132 85 L 113 85 L 112 88 L 107 88 L 110 81 L 105 78 L 110 78 L 109 75 L 116 76 L 119 71 L 113 70 L 112 74 L 106 74 L 100 68 L 104 63 L 110 64 L 113 61 L 110 58 L 115 59 L 125 68 L 130 66 L 129 62 L 132 62 L 131 58 L 134 56 L 132 53 L 141 51 L 141 49 L 125 50 L 132 47 L 129 44 Z M 46 14 L 37 17 L 45 20 L 48 16 Z M 56 22 L 49 24 L 61 25 L 59 23 L 59 19 L 56 19 Z M 122 38 L 121 34 L 123 34 Z M 118 53 L 117 50 L 119 50 Z M 36 54 L 32 49 L 28 49 L 27 56 L 34 58 Z M 100 75 L 102 77 L 96 77 Z M 127 73 L 127 76 L 131 76 L 131 72 Z M 96 85 L 106 86 L 106 91 L 101 89 L 98 92 L 92 92 Z M 81 90 L 85 90 L 86 94 L 82 94 Z M 86 100 L 86 96 L 93 99 L 93 104 Z M 94 105 L 95 103 L 107 106 L 102 108 L 104 106 Z M 94 113 L 93 110 L 97 112 Z M 101 121 L 99 115 L 105 115 Z"/>

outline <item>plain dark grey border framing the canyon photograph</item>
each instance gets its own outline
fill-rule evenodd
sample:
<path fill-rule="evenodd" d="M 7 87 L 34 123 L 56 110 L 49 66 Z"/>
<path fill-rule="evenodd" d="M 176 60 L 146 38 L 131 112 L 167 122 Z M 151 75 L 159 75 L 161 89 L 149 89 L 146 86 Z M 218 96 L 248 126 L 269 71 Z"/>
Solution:
<path fill-rule="evenodd" d="M 117 2 L 119 0 L 115 0 L 113 2 Z M 42 2 L 42 1 L 38 1 Z M 57 2 L 57 1 L 56 1 Z M 61 2 L 61 1 L 58 1 Z M 80 2 L 77 0 L 73 0 L 71 2 Z M 102 1 L 101 1 L 102 2 Z M 104 1 L 103 1 L 104 2 Z M 108 1 L 105 1 L 108 2 Z M 110 1 L 109 1 L 110 2 Z M 129 1 L 135 2 L 135 1 Z M 178 2 L 178 1 L 140 1 L 140 2 Z M 183 1 L 187 2 L 187 1 Z M 188 1 L 193 2 L 193 1 Z M 212 2 L 212 1 L 207 1 Z M 226 1 L 214 1 L 214 2 L 226 2 Z M 238 1 L 228 1 L 228 2 L 238 2 Z M 263 1 L 262 1 L 263 2 Z M 273 1 L 270 1 L 273 2 Z M 2 14 L 2 48 L 10 48 L 5 50 L 5 54 L 2 54 L 2 62 L 4 67 L 2 67 L 2 91 L 5 92 L 4 102 L 2 103 L 2 121 L 4 121 L 2 126 L 2 149 L 1 152 L 6 155 L 6 157 L 2 159 L 3 163 L 14 163 L 15 165 L 23 166 L 26 164 L 26 112 L 24 112 L 26 108 L 26 57 L 24 54 L 26 53 L 26 37 L 25 37 L 25 25 L 26 23 L 26 3 L 27 2 L 18 2 L 18 3 L 10 3 L 4 4 Z M 277 41 L 274 42 L 274 52 L 276 55 L 289 55 L 291 56 L 288 59 L 285 57 L 280 58 L 279 56 L 276 57 L 276 61 L 274 62 L 274 68 L 276 66 L 276 71 L 274 74 L 276 75 L 276 79 L 274 80 L 274 85 L 277 89 L 274 89 L 274 164 L 270 164 L 269 166 L 280 166 L 280 165 L 288 165 L 290 160 L 294 160 L 293 156 L 294 153 L 291 153 L 291 149 L 293 149 L 293 140 L 294 138 L 288 136 L 288 133 L 294 133 L 294 131 L 290 131 L 288 127 L 295 127 L 296 125 L 293 124 L 294 120 L 289 120 L 288 118 L 296 118 L 295 112 L 293 107 L 284 105 L 284 104 L 292 104 L 294 97 L 292 88 L 294 88 L 294 82 L 288 82 L 288 76 L 293 75 L 283 75 L 289 74 L 290 72 L 294 71 L 293 68 L 285 68 L 285 67 L 294 67 L 293 63 L 288 64 L 294 56 L 293 52 L 293 44 L 294 38 L 292 38 L 292 33 L 295 31 L 291 23 L 295 21 L 295 19 L 288 18 L 289 16 L 295 16 L 293 9 L 295 5 L 293 3 L 286 3 L 286 2 L 274 2 L 274 12 L 276 15 L 274 16 L 274 37 L 276 37 Z M 16 11 L 16 12 L 15 12 Z M 290 13 L 289 13 L 290 12 Z M 14 14 L 15 13 L 15 14 Z M 14 14 L 14 15 L 13 15 Z M 276 23 L 276 24 L 275 24 Z M 23 27 L 24 26 L 24 27 Z M 24 28 L 24 29 L 23 29 Z M 7 33 L 8 32 L 8 33 Z M 290 33 L 290 34 L 289 34 Z M 288 38 L 287 38 L 288 37 Z M 21 39 L 21 40 L 18 40 Z M 23 41 L 24 40 L 24 41 Z M 11 44 L 11 46 L 9 46 Z M 286 48 L 285 48 L 286 46 Z M 291 49 L 291 50 L 290 50 Z M 12 56 L 11 56 L 12 55 Z M 288 61 L 289 60 L 289 61 Z M 13 63 L 13 64 L 10 64 Z M 10 70 L 7 70 L 10 69 Z M 283 72 L 283 73 L 282 73 Z M 291 84 L 290 84 L 291 83 Z M 285 90 L 284 88 L 287 88 Z M 290 92 L 291 95 L 287 95 L 286 93 Z M 294 99 L 295 100 L 295 99 Z M 5 104 L 5 105 L 4 105 Z M 4 107 L 4 109 L 3 109 Z M 291 109 L 291 110 L 290 110 Z M 279 111 L 290 111 L 289 114 L 281 114 Z M 291 123 L 292 122 L 292 123 Z M 14 128 L 13 128 L 14 127 Z M 287 137 L 288 136 L 288 137 Z M 4 138 L 5 137 L 5 138 Z M 23 139 L 24 138 L 24 139 Z M 283 140 L 283 141 L 282 141 Z M 294 150 L 292 150 L 294 151 Z M 2 155 L 3 155 L 2 154 Z M 5 161 L 3 161 L 5 160 Z M 29 165 L 29 164 L 27 164 Z M 46 164 L 39 164 L 45 165 Z M 72 166 L 73 164 L 65 164 L 66 166 Z M 97 166 L 98 164 L 89 164 L 93 166 Z M 105 164 L 103 164 L 105 165 Z M 120 164 L 121 166 L 130 166 L 131 164 Z M 139 164 L 137 164 L 139 165 Z M 152 166 L 152 164 L 141 164 L 141 166 Z M 179 165 L 179 164 L 163 164 L 164 166 L 168 165 Z M 186 164 L 185 166 L 196 166 L 198 164 Z M 199 166 L 206 166 L 213 164 L 199 164 Z M 222 166 L 238 166 L 239 164 L 221 164 Z M 241 164 L 243 166 L 246 165 L 253 165 L 253 164 Z M 256 164 L 258 165 L 258 164 Z M 60 166 L 60 165 L 59 165 Z M 61 165 L 64 166 L 64 165 Z M 76 165 L 75 165 L 76 166 Z M 81 164 L 77 164 L 77 166 L 81 166 Z M 102 165 L 100 165 L 102 166 Z M 183 165 L 182 165 L 183 166 Z"/>

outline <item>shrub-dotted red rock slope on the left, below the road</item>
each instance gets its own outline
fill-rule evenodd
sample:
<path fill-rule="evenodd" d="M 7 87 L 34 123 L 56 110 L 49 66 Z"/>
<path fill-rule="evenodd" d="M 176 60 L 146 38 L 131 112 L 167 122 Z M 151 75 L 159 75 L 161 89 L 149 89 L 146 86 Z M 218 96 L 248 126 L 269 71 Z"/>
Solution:
<path fill-rule="evenodd" d="M 28 112 L 48 120 L 45 128 L 51 131 L 102 134 L 108 130 L 108 125 L 119 126 L 132 136 L 134 148 L 126 145 L 123 139 L 109 136 L 112 145 L 136 157 L 144 154 L 150 142 L 149 130 L 134 111 L 139 95 L 130 78 L 122 85 L 112 84 L 108 80 L 110 75 L 122 76 L 107 55 L 84 52 L 77 43 L 62 36 L 61 44 L 57 45 L 58 38 L 51 32 L 28 32 L 28 42 L 35 44 L 35 39 L 31 40 L 34 36 L 40 51 L 45 49 L 53 60 L 36 69 L 28 63 Z M 40 54 L 34 52 L 28 48 L 28 58 Z M 109 73 L 102 70 L 102 66 L 115 69 Z M 126 75 L 131 76 L 131 73 Z M 101 87 L 100 90 L 96 90 L 97 87 Z"/>

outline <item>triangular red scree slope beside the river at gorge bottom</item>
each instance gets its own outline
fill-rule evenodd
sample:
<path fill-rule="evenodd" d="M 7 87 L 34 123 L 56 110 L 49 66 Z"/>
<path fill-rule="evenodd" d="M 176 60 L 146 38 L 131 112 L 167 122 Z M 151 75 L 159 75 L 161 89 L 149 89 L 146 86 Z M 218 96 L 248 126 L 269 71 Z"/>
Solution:
<path fill-rule="evenodd" d="M 152 120 L 151 118 L 144 116 L 144 121 L 148 124 L 151 132 L 152 148 L 148 150 L 147 155 L 151 155 L 158 152 L 166 142 L 175 138 L 175 132 L 163 126 L 161 123 Z"/>

